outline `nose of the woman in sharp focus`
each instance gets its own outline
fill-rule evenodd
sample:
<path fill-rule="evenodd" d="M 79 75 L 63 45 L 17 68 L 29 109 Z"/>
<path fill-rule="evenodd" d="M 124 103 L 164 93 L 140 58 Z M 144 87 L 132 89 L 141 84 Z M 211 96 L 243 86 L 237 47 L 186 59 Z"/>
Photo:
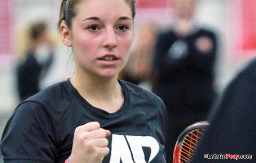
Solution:
<path fill-rule="evenodd" d="M 105 31 L 103 46 L 109 49 L 117 46 L 117 38 L 113 29 L 107 29 Z"/>

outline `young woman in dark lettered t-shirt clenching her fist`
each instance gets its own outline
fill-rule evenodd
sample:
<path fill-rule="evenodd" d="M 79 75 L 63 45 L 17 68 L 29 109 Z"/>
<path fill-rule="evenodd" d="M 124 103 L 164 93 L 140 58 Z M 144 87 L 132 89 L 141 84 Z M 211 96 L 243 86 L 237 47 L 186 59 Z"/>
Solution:
<path fill-rule="evenodd" d="M 165 162 L 166 110 L 117 79 L 133 42 L 134 0 L 63 0 L 75 73 L 22 102 L 5 127 L 6 162 Z"/>

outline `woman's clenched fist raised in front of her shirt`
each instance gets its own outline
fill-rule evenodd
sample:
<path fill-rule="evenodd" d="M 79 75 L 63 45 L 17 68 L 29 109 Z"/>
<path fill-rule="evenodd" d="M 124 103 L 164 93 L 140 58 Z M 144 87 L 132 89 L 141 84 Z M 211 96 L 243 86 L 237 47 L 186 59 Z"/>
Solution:
<path fill-rule="evenodd" d="M 107 136 L 110 131 L 100 128 L 98 122 L 78 126 L 74 133 L 70 163 L 98 163 L 108 155 Z"/>

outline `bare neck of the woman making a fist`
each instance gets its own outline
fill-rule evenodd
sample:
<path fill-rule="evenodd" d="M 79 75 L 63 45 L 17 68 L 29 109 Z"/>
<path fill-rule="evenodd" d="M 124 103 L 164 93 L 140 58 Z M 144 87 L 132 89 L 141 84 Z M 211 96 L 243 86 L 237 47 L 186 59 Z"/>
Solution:
<path fill-rule="evenodd" d="M 123 104 L 123 95 L 117 83 L 117 75 L 106 79 L 75 73 L 70 82 L 79 94 L 96 108 L 114 113 Z"/>

